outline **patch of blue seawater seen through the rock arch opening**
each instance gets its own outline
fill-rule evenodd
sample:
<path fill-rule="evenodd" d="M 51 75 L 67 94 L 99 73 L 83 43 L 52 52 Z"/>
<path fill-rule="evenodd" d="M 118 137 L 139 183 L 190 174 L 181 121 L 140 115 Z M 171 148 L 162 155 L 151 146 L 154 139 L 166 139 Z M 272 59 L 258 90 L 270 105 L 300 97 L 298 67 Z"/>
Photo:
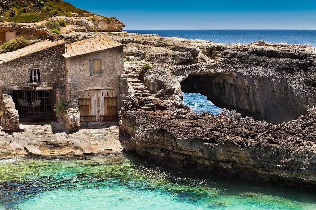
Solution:
<path fill-rule="evenodd" d="M 207 100 L 206 96 L 199 93 L 184 93 L 182 92 L 183 103 L 188 105 L 195 112 L 210 112 L 217 116 L 221 114 L 222 109 L 215 106 L 211 101 Z"/>

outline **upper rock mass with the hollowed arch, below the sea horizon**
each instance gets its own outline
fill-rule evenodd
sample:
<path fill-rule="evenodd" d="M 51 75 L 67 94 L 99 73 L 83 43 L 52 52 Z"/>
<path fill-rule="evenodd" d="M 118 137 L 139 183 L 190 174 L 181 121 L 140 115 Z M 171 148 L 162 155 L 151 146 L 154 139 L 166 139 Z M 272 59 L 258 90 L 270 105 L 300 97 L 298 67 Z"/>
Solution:
<path fill-rule="evenodd" d="M 201 93 L 215 105 L 278 124 L 297 119 L 316 103 L 316 49 L 308 45 L 221 44 L 179 37 L 113 33 L 125 62 L 154 67 L 144 84 L 159 97 Z M 143 59 L 139 59 L 146 52 Z M 127 59 L 128 60 L 128 59 Z"/>

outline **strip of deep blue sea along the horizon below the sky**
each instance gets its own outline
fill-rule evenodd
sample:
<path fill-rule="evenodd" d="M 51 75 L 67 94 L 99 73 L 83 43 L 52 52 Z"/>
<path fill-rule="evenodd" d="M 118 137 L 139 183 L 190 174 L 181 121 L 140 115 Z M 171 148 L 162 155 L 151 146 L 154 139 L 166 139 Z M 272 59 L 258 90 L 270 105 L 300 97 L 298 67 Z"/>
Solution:
<path fill-rule="evenodd" d="M 316 30 L 128 30 L 128 32 L 202 39 L 217 43 L 246 44 L 260 39 L 265 42 L 310 44 L 316 47 Z"/>

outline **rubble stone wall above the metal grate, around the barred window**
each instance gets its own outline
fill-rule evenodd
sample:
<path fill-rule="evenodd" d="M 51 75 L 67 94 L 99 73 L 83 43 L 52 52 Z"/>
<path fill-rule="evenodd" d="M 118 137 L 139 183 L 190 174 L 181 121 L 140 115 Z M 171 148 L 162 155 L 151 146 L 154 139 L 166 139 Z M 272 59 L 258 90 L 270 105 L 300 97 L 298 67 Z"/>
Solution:
<path fill-rule="evenodd" d="M 40 69 L 41 83 L 64 87 L 64 44 L 33 53 L 0 65 L 1 87 L 30 83 L 30 70 Z"/>

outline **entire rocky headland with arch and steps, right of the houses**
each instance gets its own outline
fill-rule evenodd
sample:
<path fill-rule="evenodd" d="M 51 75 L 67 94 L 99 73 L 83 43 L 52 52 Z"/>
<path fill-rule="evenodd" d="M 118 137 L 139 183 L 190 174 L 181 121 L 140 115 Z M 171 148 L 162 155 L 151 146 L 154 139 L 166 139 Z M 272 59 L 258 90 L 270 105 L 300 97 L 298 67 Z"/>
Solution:
<path fill-rule="evenodd" d="M 121 80 L 128 86 L 119 126 L 125 151 L 186 170 L 316 184 L 316 48 L 127 32 L 59 38 L 71 43 L 102 34 L 124 44 Z M 139 75 L 144 64 L 153 69 Z M 194 113 L 181 91 L 232 111 Z"/>

